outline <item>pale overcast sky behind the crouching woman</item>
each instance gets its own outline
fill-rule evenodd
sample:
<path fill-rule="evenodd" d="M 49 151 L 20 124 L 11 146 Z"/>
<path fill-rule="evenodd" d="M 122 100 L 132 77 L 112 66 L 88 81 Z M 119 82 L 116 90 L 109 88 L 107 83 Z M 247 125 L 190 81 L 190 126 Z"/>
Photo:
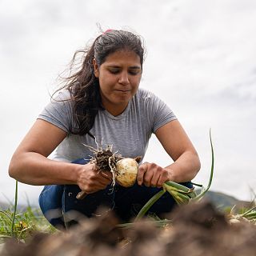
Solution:
<path fill-rule="evenodd" d="M 56 88 L 75 50 L 102 30 L 141 34 L 141 86 L 162 98 L 198 150 L 212 190 L 250 200 L 256 188 L 256 2 L 254 0 L 0 0 L 0 201 L 14 200 L 11 155 Z M 170 158 L 152 138 L 145 161 Z M 42 187 L 19 185 L 19 202 Z"/>

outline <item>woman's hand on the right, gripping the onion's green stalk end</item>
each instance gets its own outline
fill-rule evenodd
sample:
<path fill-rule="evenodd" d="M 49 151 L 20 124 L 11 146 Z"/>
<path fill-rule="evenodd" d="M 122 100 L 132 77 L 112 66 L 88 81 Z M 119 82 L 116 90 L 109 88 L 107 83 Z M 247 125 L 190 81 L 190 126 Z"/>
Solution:
<path fill-rule="evenodd" d="M 138 185 L 162 187 L 162 184 L 169 181 L 170 177 L 170 170 L 166 170 L 154 162 L 144 162 L 138 167 Z"/>

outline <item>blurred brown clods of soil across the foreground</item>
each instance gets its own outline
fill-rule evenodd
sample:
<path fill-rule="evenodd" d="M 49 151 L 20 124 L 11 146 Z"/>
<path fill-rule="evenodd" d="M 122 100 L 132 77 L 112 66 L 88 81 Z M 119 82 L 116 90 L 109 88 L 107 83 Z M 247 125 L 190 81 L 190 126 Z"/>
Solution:
<path fill-rule="evenodd" d="M 112 212 L 99 215 L 64 232 L 34 234 L 26 244 L 9 240 L 0 255 L 256 255 L 256 225 L 230 224 L 210 202 L 177 207 L 166 216 L 172 223 L 164 228 L 144 219 L 121 229 Z"/>

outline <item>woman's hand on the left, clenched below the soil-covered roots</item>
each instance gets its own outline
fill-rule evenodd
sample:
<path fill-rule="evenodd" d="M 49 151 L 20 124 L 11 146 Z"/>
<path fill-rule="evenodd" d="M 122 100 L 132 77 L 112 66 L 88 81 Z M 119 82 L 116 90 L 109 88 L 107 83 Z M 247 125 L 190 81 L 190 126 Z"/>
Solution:
<path fill-rule="evenodd" d="M 78 166 L 81 170 L 78 171 L 77 184 L 86 194 L 104 190 L 112 182 L 110 171 L 98 170 L 93 163 Z"/>

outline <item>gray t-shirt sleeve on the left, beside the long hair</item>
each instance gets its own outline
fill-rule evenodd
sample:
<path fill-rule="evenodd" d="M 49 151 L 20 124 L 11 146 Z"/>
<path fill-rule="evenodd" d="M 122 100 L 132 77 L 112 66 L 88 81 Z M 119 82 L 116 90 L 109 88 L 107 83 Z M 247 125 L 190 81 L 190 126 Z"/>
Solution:
<path fill-rule="evenodd" d="M 50 122 L 70 134 L 72 128 L 72 107 L 69 91 L 60 91 L 38 115 L 38 119 Z"/>

